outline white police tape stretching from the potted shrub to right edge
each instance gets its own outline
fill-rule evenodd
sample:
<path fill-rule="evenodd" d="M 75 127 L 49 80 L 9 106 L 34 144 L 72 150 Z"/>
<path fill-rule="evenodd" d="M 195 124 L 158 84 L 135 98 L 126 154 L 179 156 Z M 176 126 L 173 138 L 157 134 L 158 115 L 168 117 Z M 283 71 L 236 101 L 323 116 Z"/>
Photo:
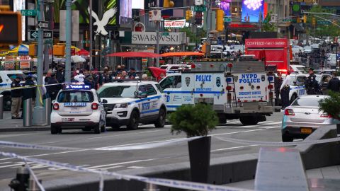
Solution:
<path fill-rule="evenodd" d="M 233 139 L 229 137 L 215 137 L 216 139 L 220 139 L 221 141 L 227 141 L 234 144 L 249 144 L 249 145 L 258 145 L 258 146 L 298 146 L 298 145 L 309 145 L 309 144 L 324 144 L 340 141 L 340 137 L 329 138 L 329 139 L 320 139 L 320 140 L 304 140 L 304 141 L 296 141 L 296 142 L 269 142 L 269 141 L 249 141 L 244 139 Z"/>

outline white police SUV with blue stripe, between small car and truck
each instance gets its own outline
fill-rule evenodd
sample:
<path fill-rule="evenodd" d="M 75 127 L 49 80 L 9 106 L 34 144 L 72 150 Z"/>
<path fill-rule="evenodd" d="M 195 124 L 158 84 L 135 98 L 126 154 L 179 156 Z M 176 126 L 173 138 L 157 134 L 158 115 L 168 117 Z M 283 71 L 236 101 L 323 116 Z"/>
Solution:
<path fill-rule="evenodd" d="M 106 125 L 137 129 L 139 123 L 164 127 L 166 120 L 166 96 L 153 81 L 117 80 L 105 83 L 98 90 L 106 110 Z"/>

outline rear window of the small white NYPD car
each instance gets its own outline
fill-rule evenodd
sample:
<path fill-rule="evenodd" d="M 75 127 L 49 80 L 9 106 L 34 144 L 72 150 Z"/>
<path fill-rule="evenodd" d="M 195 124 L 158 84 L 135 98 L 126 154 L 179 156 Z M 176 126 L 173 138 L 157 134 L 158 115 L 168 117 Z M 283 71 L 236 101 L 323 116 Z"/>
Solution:
<path fill-rule="evenodd" d="M 94 101 L 94 95 L 91 91 L 62 91 L 60 92 L 57 101 L 59 103 L 90 103 Z"/>

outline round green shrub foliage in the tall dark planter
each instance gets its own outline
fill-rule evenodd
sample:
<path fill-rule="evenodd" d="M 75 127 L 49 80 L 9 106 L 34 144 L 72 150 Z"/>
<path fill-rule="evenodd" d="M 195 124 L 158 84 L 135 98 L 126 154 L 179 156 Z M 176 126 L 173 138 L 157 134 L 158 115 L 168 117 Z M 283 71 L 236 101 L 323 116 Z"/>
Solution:
<path fill-rule="evenodd" d="M 210 105 L 182 105 L 169 116 L 171 133 L 185 132 L 187 137 L 207 136 L 218 125 L 216 112 Z"/>

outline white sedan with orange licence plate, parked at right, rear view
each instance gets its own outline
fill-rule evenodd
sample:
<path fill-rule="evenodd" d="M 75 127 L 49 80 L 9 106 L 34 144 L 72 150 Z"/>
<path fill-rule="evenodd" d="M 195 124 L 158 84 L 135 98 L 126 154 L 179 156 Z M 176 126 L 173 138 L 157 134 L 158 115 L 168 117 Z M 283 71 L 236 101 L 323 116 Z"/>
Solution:
<path fill-rule="evenodd" d="M 324 98 L 328 96 L 300 96 L 285 108 L 281 129 L 282 141 L 305 139 L 319 127 L 339 123 L 327 113 L 319 111 L 319 100 Z"/>

